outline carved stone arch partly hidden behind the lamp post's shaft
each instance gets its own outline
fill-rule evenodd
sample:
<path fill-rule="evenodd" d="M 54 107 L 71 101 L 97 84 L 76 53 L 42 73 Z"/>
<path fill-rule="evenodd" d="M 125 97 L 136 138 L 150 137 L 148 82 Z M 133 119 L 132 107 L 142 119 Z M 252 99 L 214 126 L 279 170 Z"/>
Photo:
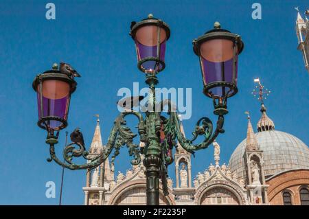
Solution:
<path fill-rule="evenodd" d="M 145 179 L 137 179 L 129 181 L 117 187 L 117 189 L 113 190 L 113 194 L 111 195 L 111 198 L 108 200 L 107 205 L 117 205 L 117 201 L 119 200 L 119 198 L 122 197 L 122 195 L 125 195 L 126 192 L 133 191 L 133 189 L 138 188 L 146 190 Z M 163 196 L 162 185 L 160 184 L 159 187 L 160 197 L 163 197 L 163 200 L 165 199 L 167 205 L 176 205 L 176 203 L 174 202 L 174 196 L 172 196 L 172 190 L 170 188 L 168 188 L 168 192 L 169 192 L 168 196 Z M 145 205 L 146 205 L 146 199 L 145 199 Z"/>

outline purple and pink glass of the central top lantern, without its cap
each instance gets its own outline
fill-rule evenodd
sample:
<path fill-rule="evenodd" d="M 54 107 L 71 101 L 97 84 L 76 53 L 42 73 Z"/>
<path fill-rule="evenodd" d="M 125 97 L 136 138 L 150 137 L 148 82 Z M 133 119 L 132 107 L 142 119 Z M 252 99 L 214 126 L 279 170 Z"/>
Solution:
<path fill-rule="evenodd" d="M 160 45 L 159 56 L 157 54 L 158 44 L 158 30 L 160 29 Z M 135 35 L 135 45 L 137 49 L 137 60 L 140 61 L 143 58 L 159 58 L 164 62 L 165 59 L 165 47 L 166 47 L 166 32 L 162 27 L 157 25 L 146 25 L 140 27 Z M 155 60 L 147 60 L 141 65 L 144 69 L 161 70 L 162 64 Z"/>

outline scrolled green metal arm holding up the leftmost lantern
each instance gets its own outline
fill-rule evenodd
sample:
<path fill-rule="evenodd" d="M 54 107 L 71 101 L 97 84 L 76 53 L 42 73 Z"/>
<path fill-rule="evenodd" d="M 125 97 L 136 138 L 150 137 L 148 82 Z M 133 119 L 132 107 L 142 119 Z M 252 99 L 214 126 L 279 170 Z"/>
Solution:
<path fill-rule="evenodd" d="M 112 161 L 117 157 L 119 154 L 119 150 L 122 146 L 126 145 L 128 147 L 128 152 L 130 156 L 134 156 L 131 163 L 133 165 L 138 165 L 141 161 L 140 153 L 139 153 L 139 145 L 133 143 L 133 139 L 137 136 L 137 134 L 134 134 L 128 126 L 126 126 L 126 121 L 124 120 L 124 117 L 127 115 L 135 115 L 139 119 L 138 124 L 138 132 L 140 135 L 140 141 L 145 141 L 146 135 L 145 135 L 145 126 L 144 126 L 144 118 L 141 115 L 141 113 L 138 113 L 136 111 L 126 111 L 123 113 L 120 113 L 120 115 L 115 119 L 115 123 L 113 128 L 111 129 L 111 133 L 108 137 L 108 141 L 106 143 L 105 150 L 102 151 L 100 154 L 98 154 L 95 157 L 89 158 L 89 152 L 84 148 L 84 146 L 80 145 L 80 143 L 70 143 L 69 145 L 65 146 L 65 149 L 63 150 L 63 157 L 65 161 L 60 161 L 55 153 L 55 143 L 52 141 L 48 141 L 49 143 L 49 153 L 50 158 L 47 159 L 47 161 L 51 162 L 54 160 L 56 163 L 61 165 L 64 168 L 68 168 L 71 170 L 82 170 L 82 169 L 90 169 L 98 167 L 101 163 L 103 163 L 108 156 L 111 154 L 113 149 L 115 149 L 115 152 L 112 156 Z M 78 148 L 76 148 L 78 146 Z M 72 162 L 73 157 L 84 157 L 88 162 L 85 164 L 76 164 Z"/>

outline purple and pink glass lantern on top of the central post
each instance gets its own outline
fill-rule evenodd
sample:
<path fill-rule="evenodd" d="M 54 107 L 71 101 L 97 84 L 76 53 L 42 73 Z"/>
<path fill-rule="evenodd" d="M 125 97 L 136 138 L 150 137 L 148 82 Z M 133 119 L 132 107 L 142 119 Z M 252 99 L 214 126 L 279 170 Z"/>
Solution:
<path fill-rule="evenodd" d="M 165 68 L 166 41 L 170 38 L 170 28 L 166 23 L 148 15 L 138 23 L 131 23 L 130 35 L 135 41 L 137 67 L 144 73 L 158 73 Z"/>

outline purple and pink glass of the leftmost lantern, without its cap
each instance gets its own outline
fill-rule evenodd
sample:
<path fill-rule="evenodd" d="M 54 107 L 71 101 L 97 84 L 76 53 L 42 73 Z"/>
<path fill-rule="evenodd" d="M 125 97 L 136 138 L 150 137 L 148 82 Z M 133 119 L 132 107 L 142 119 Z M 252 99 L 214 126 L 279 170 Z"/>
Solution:
<path fill-rule="evenodd" d="M 57 117 L 67 121 L 70 100 L 70 85 L 67 82 L 61 80 L 45 80 L 42 82 L 42 85 L 38 85 L 37 97 L 39 119 L 42 117 Z M 43 123 L 41 125 L 47 125 L 48 128 L 58 130 L 62 126 L 62 122 L 56 119 L 49 119 L 46 121 L 46 124 Z"/>

